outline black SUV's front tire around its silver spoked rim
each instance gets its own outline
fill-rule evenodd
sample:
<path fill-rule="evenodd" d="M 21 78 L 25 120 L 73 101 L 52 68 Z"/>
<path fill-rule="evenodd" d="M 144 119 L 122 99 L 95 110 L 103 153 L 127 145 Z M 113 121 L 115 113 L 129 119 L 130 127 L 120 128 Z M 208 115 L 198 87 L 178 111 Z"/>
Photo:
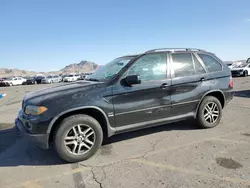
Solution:
<path fill-rule="evenodd" d="M 76 154 L 74 153 L 74 150 L 78 151 L 79 149 L 79 146 L 76 146 L 76 144 L 78 144 L 78 141 L 76 140 L 78 140 L 78 138 L 80 137 L 75 139 L 74 135 L 76 134 L 74 134 L 74 132 L 76 131 L 77 134 L 79 133 L 78 125 L 83 126 L 81 128 L 82 129 L 81 131 L 83 132 L 85 130 L 83 129 L 85 128 L 85 126 L 86 126 L 86 130 L 90 128 L 91 131 L 93 131 L 93 134 L 87 138 L 88 141 L 92 140 L 93 145 L 89 148 L 89 150 L 87 149 L 87 147 L 85 147 L 85 145 L 82 145 L 80 149 L 83 148 L 83 149 L 87 149 L 88 151 L 87 152 L 84 151 L 84 153 Z M 73 130 L 74 128 L 75 130 Z M 87 134 L 89 133 L 87 132 Z M 67 140 L 69 144 L 68 146 L 66 146 L 66 139 L 65 139 L 66 137 L 74 138 L 74 139 Z M 81 138 L 81 139 L 85 140 L 85 138 Z M 56 152 L 59 154 L 59 156 L 63 160 L 67 162 L 79 162 L 79 161 L 83 161 L 92 157 L 100 148 L 102 141 L 103 141 L 103 131 L 99 122 L 91 116 L 79 114 L 79 115 L 73 115 L 73 116 L 67 117 L 61 122 L 60 126 L 55 132 L 53 143 L 54 143 Z M 74 142 L 74 144 L 70 144 L 70 142 Z M 89 147 L 88 142 L 85 142 L 85 141 L 82 141 L 82 142 L 84 142 L 84 144 L 87 144 L 87 146 Z"/>

